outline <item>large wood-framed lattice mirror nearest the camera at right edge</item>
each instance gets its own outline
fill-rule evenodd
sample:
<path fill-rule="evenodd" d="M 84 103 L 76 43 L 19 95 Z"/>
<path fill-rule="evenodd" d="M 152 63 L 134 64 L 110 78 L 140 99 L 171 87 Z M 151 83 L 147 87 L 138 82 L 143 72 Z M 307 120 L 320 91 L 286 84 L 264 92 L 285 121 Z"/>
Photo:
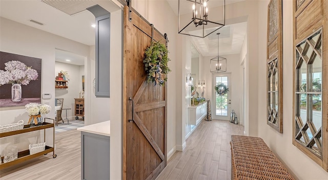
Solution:
<path fill-rule="evenodd" d="M 325 0 L 294 0 L 293 144 L 328 171 L 326 7 Z"/>

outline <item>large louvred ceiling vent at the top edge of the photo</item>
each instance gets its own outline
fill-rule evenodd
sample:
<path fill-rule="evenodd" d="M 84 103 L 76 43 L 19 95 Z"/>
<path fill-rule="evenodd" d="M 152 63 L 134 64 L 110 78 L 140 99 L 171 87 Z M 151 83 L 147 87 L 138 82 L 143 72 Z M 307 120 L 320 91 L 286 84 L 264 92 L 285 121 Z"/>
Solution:
<path fill-rule="evenodd" d="M 68 15 L 76 14 L 97 5 L 95 2 L 90 0 L 42 0 L 42 2 L 58 9 L 59 11 L 65 12 Z"/>

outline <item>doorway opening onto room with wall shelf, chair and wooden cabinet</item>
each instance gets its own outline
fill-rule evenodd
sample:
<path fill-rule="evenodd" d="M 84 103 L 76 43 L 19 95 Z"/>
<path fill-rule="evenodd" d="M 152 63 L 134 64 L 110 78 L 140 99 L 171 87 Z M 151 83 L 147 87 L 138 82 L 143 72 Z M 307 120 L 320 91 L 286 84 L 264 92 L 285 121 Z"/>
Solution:
<path fill-rule="evenodd" d="M 84 75 L 87 57 L 55 49 L 55 132 L 84 126 Z M 60 102 L 60 103 L 57 103 Z"/>

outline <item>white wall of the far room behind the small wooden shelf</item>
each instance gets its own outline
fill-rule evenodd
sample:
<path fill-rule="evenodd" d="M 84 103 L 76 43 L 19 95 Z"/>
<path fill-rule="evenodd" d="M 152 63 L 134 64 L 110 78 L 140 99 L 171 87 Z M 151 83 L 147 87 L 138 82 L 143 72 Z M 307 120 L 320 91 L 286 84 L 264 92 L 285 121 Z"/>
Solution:
<path fill-rule="evenodd" d="M 83 71 L 81 71 L 83 67 Z M 75 101 L 74 98 L 79 98 L 79 92 L 82 91 L 81 76 L 84 75 L 84 66 L 77 66 L 68 63 L 55 62 L 54 77 L 58 76 L 58 72 L 61 70 L 67 71 L 69 75 L 68 88 L 67 89 L 55 89 L 55 98 L 64 98 L 63 108 L 71 108 L 67 110 L 67 118 L 75 119 Z M 82 94 L 81 94 L 82 97 Z M 66 118 L 66 110 L 61 112 L 61 117 Z M 79 117 L 81 119 L 81 117 Z"/>

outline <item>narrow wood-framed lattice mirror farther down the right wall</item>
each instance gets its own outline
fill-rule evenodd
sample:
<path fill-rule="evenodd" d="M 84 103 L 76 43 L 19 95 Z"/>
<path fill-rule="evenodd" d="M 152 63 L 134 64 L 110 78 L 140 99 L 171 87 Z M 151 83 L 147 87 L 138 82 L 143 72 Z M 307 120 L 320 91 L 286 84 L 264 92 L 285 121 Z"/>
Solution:
<path fill-rule="evenodd" d="M 267 124 L 282 133 L 282 1 L 268 5 Z"/>

